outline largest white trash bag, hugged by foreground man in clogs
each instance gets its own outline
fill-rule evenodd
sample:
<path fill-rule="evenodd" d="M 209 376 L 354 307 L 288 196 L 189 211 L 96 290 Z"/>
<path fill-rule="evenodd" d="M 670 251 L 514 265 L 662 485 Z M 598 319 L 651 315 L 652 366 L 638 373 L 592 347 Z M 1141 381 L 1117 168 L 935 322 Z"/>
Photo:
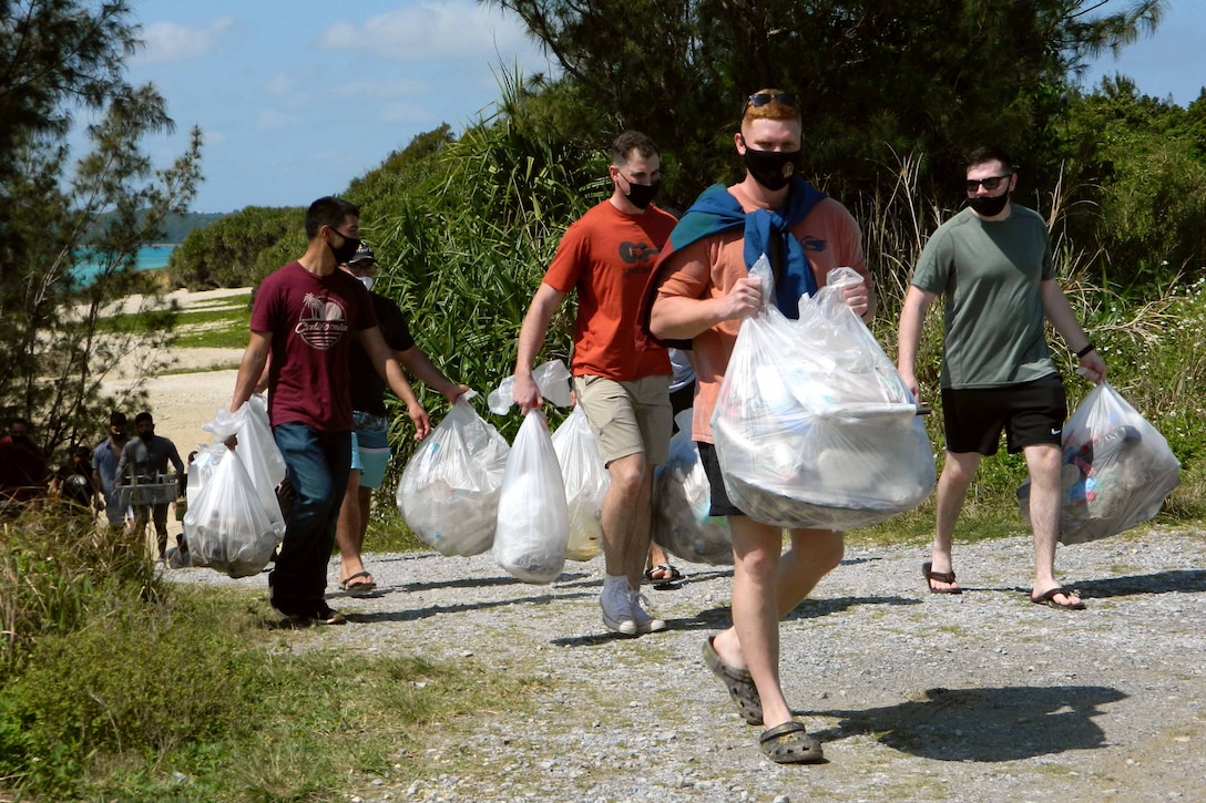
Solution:
<path fill-rule="evenodd" d="M 766 257 L 750 271 L 772 288 Z M 933 490 L 933 450 L 896 367 L 847 306 L 830 272 L 789 321 L 766 298 L 742 322 L 712 416 L 725 490 L 779 527 L 870 527 Z M 767 294 L 768 295 L 768 294 Z"/>

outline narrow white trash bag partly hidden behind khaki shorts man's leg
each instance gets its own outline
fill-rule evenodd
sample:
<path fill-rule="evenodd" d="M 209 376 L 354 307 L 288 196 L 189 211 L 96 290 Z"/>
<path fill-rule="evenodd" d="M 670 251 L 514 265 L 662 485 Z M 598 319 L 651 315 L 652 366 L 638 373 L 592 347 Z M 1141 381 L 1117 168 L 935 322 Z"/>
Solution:
<path fill-rule="evenodd" d="M 552 433 L 552 449 L 561 464 L 569 508 L 566 557 L 590 561 L 603 551 L 603 497 L 611 485 L 611 475 L 603 465 L 595 433 L 581 405 L 575 406 Z"/>

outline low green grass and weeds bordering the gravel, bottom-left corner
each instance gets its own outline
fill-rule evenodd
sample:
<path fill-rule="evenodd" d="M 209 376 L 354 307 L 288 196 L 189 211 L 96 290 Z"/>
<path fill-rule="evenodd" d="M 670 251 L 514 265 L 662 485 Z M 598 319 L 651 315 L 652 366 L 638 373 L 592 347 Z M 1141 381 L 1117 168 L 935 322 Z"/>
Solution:
<path fill-rule="evenodd" d="M 318 629 L 274 629 L 254 597 L 171 588 L 39 639 L 4 688 L 0 796 L 341 799 L 425 776 L 434 722 L 497 699 L 523 710 L 537 682 L 323 649 Z"/>

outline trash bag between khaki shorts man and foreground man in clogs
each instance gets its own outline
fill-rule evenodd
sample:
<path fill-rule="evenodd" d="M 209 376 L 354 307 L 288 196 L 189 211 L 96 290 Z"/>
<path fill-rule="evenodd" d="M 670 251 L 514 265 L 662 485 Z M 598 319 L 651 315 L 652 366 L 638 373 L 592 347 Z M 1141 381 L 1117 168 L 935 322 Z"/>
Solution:
<path fill-rule="evenodd" d="M 654 471 L 652 539 L 685 561 L 732 565 L 728 518 L 710 514 L 712 486 L 691 440 L 693 412 L 687 408 L 674 416 L 679 430 L 671 438 L 666 463 Z"/>

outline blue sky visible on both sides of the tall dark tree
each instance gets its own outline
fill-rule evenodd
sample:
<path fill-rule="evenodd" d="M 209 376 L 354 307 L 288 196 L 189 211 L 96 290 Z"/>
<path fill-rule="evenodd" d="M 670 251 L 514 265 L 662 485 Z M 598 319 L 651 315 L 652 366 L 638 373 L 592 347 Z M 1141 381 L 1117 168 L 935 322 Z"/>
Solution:
<path fill-rule="evenodd" d="M 1128 0 L 1111 0 L 1120 7 Z M 440 123 L 459 134 L 498 96 L 499 70 L 552 68 L 523 25 L 474 0 L 144 0 L 130 78 L 152 82 L 178 130 L 159 164 L 205 137 L 193 207 L 303 206 L 339 193 Z M 1172 0 L 1155 37 L 1093 65 L 1188 105 L 1206 82 L 1206 0 Z"/>

